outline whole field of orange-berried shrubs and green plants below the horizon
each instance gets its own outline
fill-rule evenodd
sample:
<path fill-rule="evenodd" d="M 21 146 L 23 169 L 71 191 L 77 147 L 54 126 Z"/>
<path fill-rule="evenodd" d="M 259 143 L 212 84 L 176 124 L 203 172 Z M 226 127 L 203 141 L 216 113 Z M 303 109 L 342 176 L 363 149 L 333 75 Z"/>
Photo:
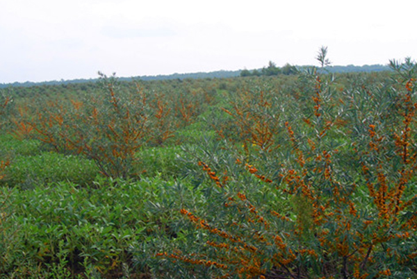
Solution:
<path fill-rule="evenodd" d="M 417 278 L 391 69 L 3 90 L 0 278 Z"/>

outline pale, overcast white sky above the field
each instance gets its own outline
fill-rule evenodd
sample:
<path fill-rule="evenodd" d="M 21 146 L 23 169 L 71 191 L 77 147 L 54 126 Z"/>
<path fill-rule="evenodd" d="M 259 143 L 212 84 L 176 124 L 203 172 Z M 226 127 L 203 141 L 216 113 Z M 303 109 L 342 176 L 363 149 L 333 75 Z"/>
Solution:
<path fill-rule="evenodd" d="M 417 1 L 0 0 L 0 83 L 417 58 Z"/>

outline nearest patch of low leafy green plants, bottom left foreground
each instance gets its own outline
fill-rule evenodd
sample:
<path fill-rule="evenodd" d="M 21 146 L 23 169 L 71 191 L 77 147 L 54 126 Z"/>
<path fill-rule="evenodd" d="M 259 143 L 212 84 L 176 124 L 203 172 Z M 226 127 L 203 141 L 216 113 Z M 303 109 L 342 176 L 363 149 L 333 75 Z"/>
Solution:
<path fill-rule="evenodd" d="M 63 182 L 14 188 L 8 197 L 13 214 L 8 213 L 7 220 L 15 228 L 13 243 L 10 237 L 0 239 L 1 251 L 7 252 L 0 257 L 0 273 L 4 278 L 55 278 L 68 272 L 73 278 L 77 273 L 81 278 L 92 273 L 121 278 L 126 270 L 145 273 L 145 268 L 133 265 L 131 248 L 169 230 L 164 220 L 171 218 L 170 212 L 155 210 L 155 205 L 174 187 L 173 180 L 160 178 L 100 178 L 92 187 Z M 1 188 L 2 194 L 9 191 Z"/>

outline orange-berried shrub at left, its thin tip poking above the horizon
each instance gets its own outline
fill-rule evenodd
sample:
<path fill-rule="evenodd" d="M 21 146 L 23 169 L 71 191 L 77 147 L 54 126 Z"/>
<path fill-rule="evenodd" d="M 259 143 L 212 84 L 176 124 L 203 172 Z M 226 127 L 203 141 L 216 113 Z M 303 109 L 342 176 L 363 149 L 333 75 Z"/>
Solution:
<path fill-rule="evenodd" d="M 147 98 L 140 89 L 136 94 L 117 94 L 114 76 L 101 75 L 100 83 L 101 90 L 91 96 L 57 98 L 43 108 L 34 105 L 35 114 L 19 123 L 32 127 L 33 136 L 54 151 L 83 155 L 104 176 L 127 178 L 148 131 Z"/>

